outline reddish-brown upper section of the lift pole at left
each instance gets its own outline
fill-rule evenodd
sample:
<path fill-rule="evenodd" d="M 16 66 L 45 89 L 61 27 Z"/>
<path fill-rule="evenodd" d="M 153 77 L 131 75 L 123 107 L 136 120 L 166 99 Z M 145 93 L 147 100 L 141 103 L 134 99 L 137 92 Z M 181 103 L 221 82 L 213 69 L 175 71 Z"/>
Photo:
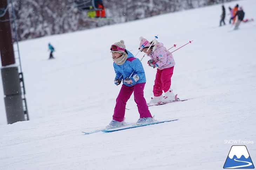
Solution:
<path fill-rule="evenodd" d="M 0 1 L 0 53 L 2 66 L 15 64 L 11 22 L 8 12 L 7 0 Z"/>

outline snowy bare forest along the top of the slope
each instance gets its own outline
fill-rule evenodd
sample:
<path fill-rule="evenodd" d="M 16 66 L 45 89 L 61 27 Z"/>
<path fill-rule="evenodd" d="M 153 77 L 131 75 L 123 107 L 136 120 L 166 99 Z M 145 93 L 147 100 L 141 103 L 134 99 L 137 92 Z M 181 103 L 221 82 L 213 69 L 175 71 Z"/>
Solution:
<path fill-rule="evenodd" d="M 80 12 L 75 7 L 74 0 L 12 1 L 18 38 L 24 40 L 138 20 L 230 0 L 103 0 L 106 15 L 111 18 L 109 20 L 89 19 L 86 12 Z"/>

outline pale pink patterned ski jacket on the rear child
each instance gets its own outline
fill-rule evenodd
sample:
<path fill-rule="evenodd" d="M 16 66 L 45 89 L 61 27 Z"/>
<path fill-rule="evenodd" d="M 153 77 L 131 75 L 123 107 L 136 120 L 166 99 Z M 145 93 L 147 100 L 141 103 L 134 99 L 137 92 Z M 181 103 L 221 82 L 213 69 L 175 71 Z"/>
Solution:
<path fill-rule="evenodd" d="M 158 65 L 158 69 L 170 68 L 175 65 L 173 54 L 167 51 L 163 43 L 158 43 L 153 46 L 150 54 L 147 54 Z"/>

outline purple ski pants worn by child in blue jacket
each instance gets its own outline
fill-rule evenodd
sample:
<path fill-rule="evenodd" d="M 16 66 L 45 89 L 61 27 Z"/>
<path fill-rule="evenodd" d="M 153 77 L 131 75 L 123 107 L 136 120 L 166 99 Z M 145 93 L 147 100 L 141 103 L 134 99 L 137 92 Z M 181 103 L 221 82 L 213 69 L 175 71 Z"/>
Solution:
<path fill-rule="evenodd" d="M 137 83 L 134 86 L 126 86 L 122 84 L 119 95 L 116 98 L 116 106 L 114 109 L 113 119 L 117 121 L 123 121 L 125 114 L 126 102 L 134 92 L 134 101 L 138 106 L 140 118 L 152 117 L 148 110 L 147 102 L 144 98 L 144 87 L 146 83 Z"/>

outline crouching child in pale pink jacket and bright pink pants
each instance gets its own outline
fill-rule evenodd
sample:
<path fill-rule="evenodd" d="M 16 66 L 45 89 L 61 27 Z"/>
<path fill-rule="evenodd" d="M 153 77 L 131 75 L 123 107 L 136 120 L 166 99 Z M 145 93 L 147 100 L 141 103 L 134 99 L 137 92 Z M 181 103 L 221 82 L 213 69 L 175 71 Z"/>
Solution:
<path fill-rule="evenodd" d="M 140 37 L 140 51 L 146 52 L 152 42 L 148 42 L 147 39 Z M 154 98 L 151 98 L 149 104 L 155 104 L 158 102 L 169 102 L 175 100 L 175 95 L 171 89 L 171 76 L 173 75 L 173 69 L 175 61 L 173 55 L 167 51 L 163 43 L 158 43 L 157 40 L 152 44 L 147 52 L 147 56 L 150 57 L 148 65 L 155 68 L 157 67 L 155 84 L 153 87 Z M 164 91 L 164 96 L 162 95 Z"/>

